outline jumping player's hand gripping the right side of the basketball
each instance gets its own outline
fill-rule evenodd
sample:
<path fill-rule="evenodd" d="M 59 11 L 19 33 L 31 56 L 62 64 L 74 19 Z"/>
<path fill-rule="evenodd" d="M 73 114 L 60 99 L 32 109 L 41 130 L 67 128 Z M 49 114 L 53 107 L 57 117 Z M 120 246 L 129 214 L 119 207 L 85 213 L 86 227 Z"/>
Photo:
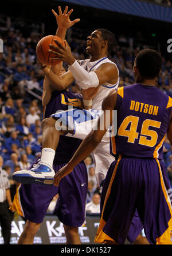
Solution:
<path fill-rule="evenodd" d="M 49 44 L 49 47 L 50 47 L 49 52 L 54 54 L 56 57 L 49 58 L 49 59 L 53 59 L 53 60 L 58 59 L 60 61 L 67 63 L 68 65 L 72 65 L 75 62 L 75 57 L 73 57 L 71 52 L 71 47 L 69 46 L 67 41 L 66 40 L 64 41 L 65 47 L 62 46 L 62 44 L 55 39 L 54 39 L 54 42 L 57 44 L 57 46 L 54 46 L 53 44 Z"/>

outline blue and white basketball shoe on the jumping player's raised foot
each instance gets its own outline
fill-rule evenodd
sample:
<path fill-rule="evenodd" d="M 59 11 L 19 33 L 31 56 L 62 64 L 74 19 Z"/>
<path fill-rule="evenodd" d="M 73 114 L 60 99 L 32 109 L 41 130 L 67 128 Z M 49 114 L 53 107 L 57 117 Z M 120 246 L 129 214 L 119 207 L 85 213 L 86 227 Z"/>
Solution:
<path fill-rule="evenodd" d="M 34 164 L 33 168 L 30 170 L 21 170 L 14 172 L 13 179 L 16 182 L 22 184 L 46 184 L 52 185 L 54 182 L 55 172 L 50 165 L 39 162 L 38 164 Z"/>

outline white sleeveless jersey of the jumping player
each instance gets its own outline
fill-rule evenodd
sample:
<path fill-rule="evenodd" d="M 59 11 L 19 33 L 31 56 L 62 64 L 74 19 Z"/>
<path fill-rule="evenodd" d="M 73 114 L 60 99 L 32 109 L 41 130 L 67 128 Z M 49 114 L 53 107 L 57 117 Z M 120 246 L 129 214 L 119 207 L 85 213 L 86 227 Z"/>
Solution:
<path fill-rule="evenodd" d="M 99 69 L 100 65 L 103 63 L 110 62 L 116 66 L 116 64 L 107 57 L 104 57 L 102 59 L 98 59 L 97 61 L 90 61 L 90 59 L 85 59 L 84 61 L 80 61 L 81 67 L 83 67 L 88 72 L 95 71 L 96 69 Z M 118 67 L 116 66 L 118 69 Z M 101 85 L 99 88 L 99 91 L 97 92 L 96 96 L 92 100 L 92 109 L 94 110 L 101 110 L 101 103 L 104 99 L 104 97 L 107 95 L 107 93 L 110 91 L 110 89 L 118 88 L 119 85 L 119 70 L 118 70 L 118 81 L 116 84 L 109 84 L 106 82 L 105 84 Z"/>

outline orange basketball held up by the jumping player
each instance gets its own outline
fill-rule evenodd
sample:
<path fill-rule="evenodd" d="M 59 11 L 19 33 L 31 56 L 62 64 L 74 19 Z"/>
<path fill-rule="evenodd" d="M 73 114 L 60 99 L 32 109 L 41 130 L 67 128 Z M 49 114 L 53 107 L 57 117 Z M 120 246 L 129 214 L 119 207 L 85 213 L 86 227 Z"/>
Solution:
<path fill-rule="evenodd" d="M 57 46 L 57 44 L 54 42 L 54 39 L 58 40 L 60 43 L 62 43 L 63 46 L 65 46 L 64 42 L 60 37 L 52 36 L 52 35 L 42 37 L 42 39 L 37 43 L 37 47 L 36 47 L 37 58 L 40 62 L 44 63 L 45 65 L 56 65 L 61 62 L 58 60 L 49 59 L 49 58 L 56 57 L 54 54 L 48 51 L 50 49 L 49 44 L 53 44 L 54 46 Z"/>

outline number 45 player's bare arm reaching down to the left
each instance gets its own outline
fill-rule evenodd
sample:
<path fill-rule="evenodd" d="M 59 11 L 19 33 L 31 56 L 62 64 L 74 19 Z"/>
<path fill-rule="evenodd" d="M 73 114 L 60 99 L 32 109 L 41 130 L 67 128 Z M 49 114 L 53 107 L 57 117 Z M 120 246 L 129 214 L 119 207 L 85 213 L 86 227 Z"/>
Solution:
<path fill-rule="evenodd" d="M 103 114 L 100 115 L 99 120 L 97 121 L 97 130 L 92 130 L 85 140 L 81 143 L 79 148 L 76 150 L 72 159 L 67 165 L 62 167 L 54 176 L 54 185 L 58 186 L 59 182 L 64 176 L 68 175 L 73 171 L 73 168 L 90 155 L 90 153 L 96 148 L 96 146 L 102 140 L 104 134 L 106 133 L 108 126 L 105 121 L 108 119 L 110 125 L 112 124 L 113 110 L 116 107 L 116 91 L 111 90 L 110 93 L 104 98 L 102 103 Z M 108 110 L 108 111 L 107 111 Z M 104 124 L 104 125 L 103 125 Z"/>

